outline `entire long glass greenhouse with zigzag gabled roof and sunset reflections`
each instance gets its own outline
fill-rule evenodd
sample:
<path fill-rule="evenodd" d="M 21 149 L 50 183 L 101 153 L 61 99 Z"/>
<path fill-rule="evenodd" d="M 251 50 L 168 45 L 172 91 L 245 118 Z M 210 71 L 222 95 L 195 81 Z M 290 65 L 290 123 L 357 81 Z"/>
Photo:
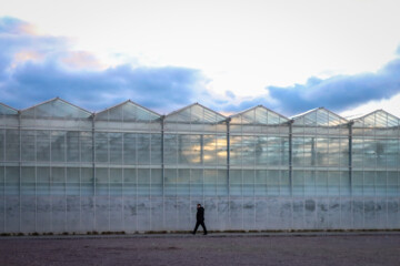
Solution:
<path fill-rule="evenodd" d="M 400 228 L 400 120 L 0 103 L 0 232 Z"/>

